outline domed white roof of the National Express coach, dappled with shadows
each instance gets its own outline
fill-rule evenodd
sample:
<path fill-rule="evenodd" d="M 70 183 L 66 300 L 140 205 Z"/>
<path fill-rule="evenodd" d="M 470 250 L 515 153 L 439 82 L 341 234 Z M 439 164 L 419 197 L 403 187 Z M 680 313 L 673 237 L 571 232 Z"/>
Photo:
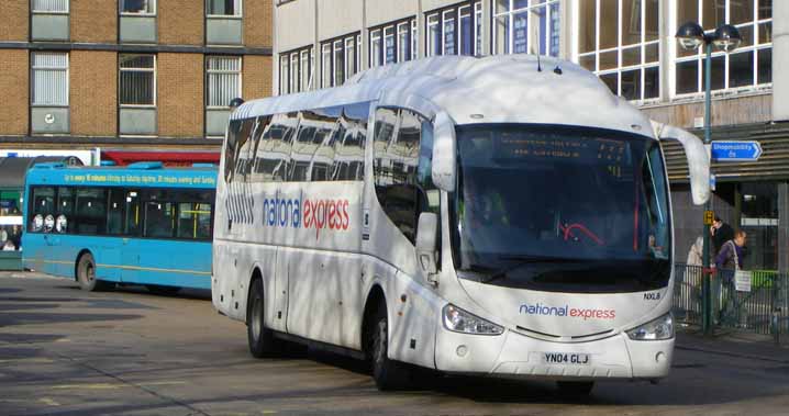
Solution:
<path fill-rule="evenodd" d="M 457 124 L 540 123 L 619 130 L 652 136 L 649 120 L 614 97 L 593 74 L 569 61 L 531 55 L 441 56 L 371 68 L 341 87 L 253 100 L 233 119 L 379 100 Z M 558 70 L 554 70 L 559 68 Z"/>

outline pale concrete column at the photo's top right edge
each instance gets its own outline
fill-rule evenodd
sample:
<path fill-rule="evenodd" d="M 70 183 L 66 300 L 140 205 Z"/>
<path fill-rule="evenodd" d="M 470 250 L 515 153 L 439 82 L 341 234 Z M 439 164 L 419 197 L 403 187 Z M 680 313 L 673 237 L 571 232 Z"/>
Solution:
<path fill-rule="evenodd" d="M 789 1 L 773 2 L 773 120 L 789 120 Z"/>

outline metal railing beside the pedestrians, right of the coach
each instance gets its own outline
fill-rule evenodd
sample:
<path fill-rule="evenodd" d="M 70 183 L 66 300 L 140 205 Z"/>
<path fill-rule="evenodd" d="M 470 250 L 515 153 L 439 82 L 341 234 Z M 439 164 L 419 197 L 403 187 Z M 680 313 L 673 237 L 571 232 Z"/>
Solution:
<path fill-rule="evenodd" d="M 711 311 L 715 327 L 769 335 L 789 341 L 789 274 L 753 271 L 751 291 L 737 291 L 734 272 L 719 271 L 711 278 Z M 703 268 L 677 263 L 674 316 L 680 325 L 701 326 L 704 315 Z"/>

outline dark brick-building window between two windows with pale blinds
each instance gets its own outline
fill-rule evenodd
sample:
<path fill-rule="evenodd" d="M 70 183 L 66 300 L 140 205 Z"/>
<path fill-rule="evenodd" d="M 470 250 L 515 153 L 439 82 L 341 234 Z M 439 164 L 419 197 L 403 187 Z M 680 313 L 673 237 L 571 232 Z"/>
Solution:
<path fill-rule="evenodd" d="M 121 55 L 121 105 L 156 105 L 156 57 Z"/>

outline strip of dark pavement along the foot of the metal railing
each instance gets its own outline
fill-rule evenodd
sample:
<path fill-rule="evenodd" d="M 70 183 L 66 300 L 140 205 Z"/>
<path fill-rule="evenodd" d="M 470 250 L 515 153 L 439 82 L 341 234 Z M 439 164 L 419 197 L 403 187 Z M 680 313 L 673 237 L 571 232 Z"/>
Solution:
<path fill-rule="evenodd" d="M 704 337 L 701 331 L 677 333 L 677 349 L 751 358 L 789 364 L 789 344 L 776 345 L 771 337 L 755 334 L 720 333 Z"/>

